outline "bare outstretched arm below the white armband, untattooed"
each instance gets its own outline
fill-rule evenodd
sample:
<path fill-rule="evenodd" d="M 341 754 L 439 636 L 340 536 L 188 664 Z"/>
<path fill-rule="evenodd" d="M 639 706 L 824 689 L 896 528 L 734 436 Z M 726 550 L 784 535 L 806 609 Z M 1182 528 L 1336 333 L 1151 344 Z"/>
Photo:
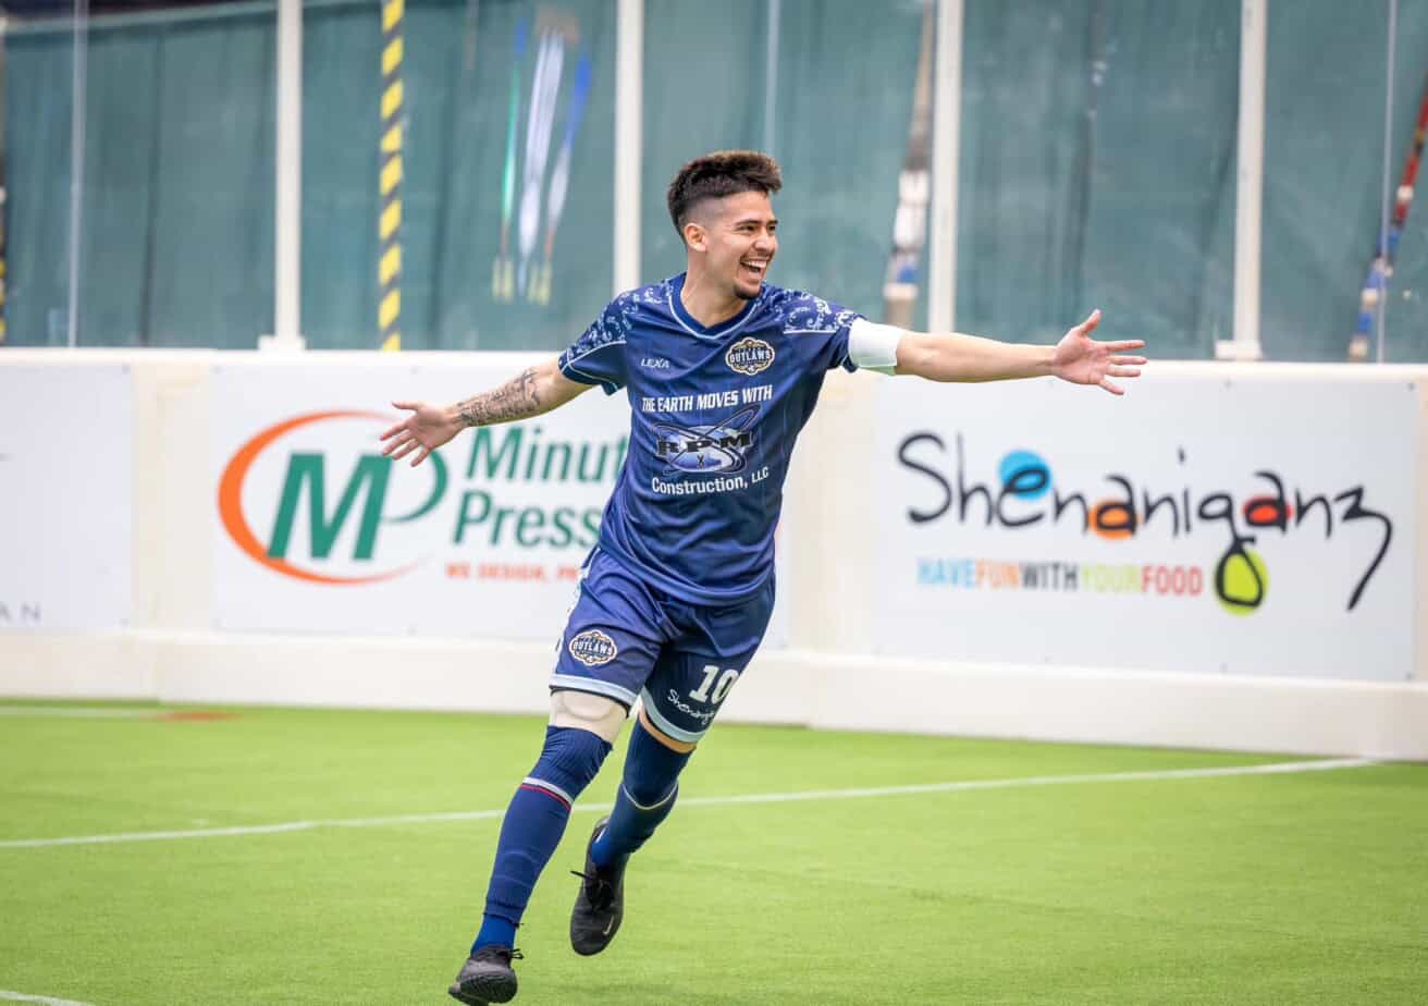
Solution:
<path fill-rule="evenodd" d="M 904 333 L 897 346 L 897 373 L 917 374 L 941 382 L 1010 380 L 1014 377 L 1055 376 L 1072 384 L 1095 384 L 1111 394 L 1125 389 L 1111 377 L 1140 377 L 1144 356 L 1122 356 L 1141 349 L 1140 339 L 1098 343 L 1091 332 L 1101 322 L 1101 312 L 1091 312 L 1055 346 L 1020 346 L 995 339 L 964 336 L 958 332 L 931 336 Z"/>

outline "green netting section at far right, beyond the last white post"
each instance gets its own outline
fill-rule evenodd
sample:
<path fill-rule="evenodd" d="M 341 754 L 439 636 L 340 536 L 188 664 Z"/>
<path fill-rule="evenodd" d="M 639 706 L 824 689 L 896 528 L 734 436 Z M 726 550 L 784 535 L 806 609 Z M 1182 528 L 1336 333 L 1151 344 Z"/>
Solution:
<path fill-rule="evenodd" d="M 1269 4 L 1261 339 L 1278 360 L 1344 360 L 1378 241 L 1388 4 Z M 1428 70 L 1428 3 L 1399 0 L 1389 199 Z M 1408 217 L 1387 314 L 1389 360 L 1428 360 L 1428 227 Z"/>

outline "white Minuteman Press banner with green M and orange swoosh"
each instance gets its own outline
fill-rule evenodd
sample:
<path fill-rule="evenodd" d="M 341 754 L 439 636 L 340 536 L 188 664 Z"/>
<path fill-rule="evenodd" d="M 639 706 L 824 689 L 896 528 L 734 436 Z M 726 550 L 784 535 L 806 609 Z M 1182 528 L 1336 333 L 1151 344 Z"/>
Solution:
<path fill-rule="evenodd" d="M 624 463 L 623 397 L 381 456 L 391 399 L 453 402 L 518 367 L 214 373 L 218 627 L 554 639 Z"/>

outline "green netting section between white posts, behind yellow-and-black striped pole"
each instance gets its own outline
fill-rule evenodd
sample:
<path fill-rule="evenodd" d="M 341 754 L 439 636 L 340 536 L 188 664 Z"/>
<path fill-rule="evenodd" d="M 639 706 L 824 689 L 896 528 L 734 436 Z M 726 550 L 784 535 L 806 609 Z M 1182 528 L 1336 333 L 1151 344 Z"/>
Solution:
<path fill-rule="evenodd" d="M 553 16 L 555 11 L 558 17 Z M 613 293 L 614 6 L 608 0 L 407 6 L 401 332 L 406 349 L 557 349 Z M 538 226 L 520 283 L 520 209 L 541 39 L 561 66 L 545 170 L 533 183 Z M 517 51 L 520 40 L 520 51 Z M 381 31 L 376 9 L 310 10 L 304 44 L 303 327 L 314 347 L 376 347 L 377 144 Z M 588 60 L 584 114 L 554 229 L 550 296 L 533 300 L 551 230 L 553 177 Z M 547 60 L 554 59 L 547 56 Z M 547 63 L 550 71 L 551 63 Z M 516 174 L 508 257 L 516 289 L 493 287 L 516 84 Z M 537 144 L 538 146 L 538 144 Z M 534 176 L 533 176 L 534 177 Z"/>

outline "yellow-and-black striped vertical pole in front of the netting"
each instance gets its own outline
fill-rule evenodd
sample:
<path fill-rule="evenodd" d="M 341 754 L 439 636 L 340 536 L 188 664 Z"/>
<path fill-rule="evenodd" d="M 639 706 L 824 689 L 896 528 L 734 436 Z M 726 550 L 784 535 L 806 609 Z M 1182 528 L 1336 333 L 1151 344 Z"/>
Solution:
<path fill-rule="evenodd" d="M 401 16 L 403 0 L 381 3 L 381 217 L 377 233 L 377 326 L 381 349 L 401 349 Z"/>

